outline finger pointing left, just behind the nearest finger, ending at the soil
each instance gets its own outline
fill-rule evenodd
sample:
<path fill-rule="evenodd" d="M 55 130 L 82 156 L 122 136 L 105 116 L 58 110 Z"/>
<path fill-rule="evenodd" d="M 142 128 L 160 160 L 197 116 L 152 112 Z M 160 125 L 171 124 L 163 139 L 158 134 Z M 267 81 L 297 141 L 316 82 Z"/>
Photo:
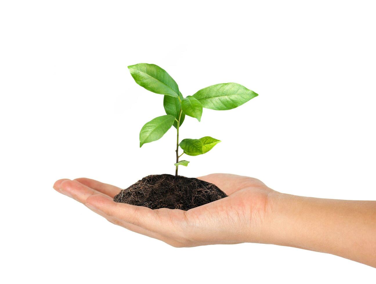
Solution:
<path fill-rule="evenodd" d="M 112 198 L 108 195 L 103 194 L 102 192 L 99 192 L 95 189 L 92 189 L 88 186 L 85 186 L 82 183 L 79 183 L 76 180 L 64 180 L 60 183 L 58 190 L 63 193 L 64 195 L 67 195 L 78 202 L 81 202 L 83 204 L 86 203 L 86 199 L 88 199 L 89 196 L 94 194 L 100 194 L 104 198 L 108 198 L 112 200 Z"/>

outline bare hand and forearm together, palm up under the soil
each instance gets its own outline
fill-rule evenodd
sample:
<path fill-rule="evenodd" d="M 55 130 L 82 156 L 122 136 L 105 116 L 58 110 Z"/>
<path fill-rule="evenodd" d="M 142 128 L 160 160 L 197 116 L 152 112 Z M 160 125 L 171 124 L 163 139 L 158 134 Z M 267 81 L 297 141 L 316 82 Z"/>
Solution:
<path fill-rule="evenodd" d="M 53 188 L 109 222 L 175 247 L 271 243 L 326 252 L 376 267 L 376 201 L 287 195 L 232 174 L 199 177 L 228 197 L 188 211 L 116 203 L 121 188 L 88 178 Z"/>

